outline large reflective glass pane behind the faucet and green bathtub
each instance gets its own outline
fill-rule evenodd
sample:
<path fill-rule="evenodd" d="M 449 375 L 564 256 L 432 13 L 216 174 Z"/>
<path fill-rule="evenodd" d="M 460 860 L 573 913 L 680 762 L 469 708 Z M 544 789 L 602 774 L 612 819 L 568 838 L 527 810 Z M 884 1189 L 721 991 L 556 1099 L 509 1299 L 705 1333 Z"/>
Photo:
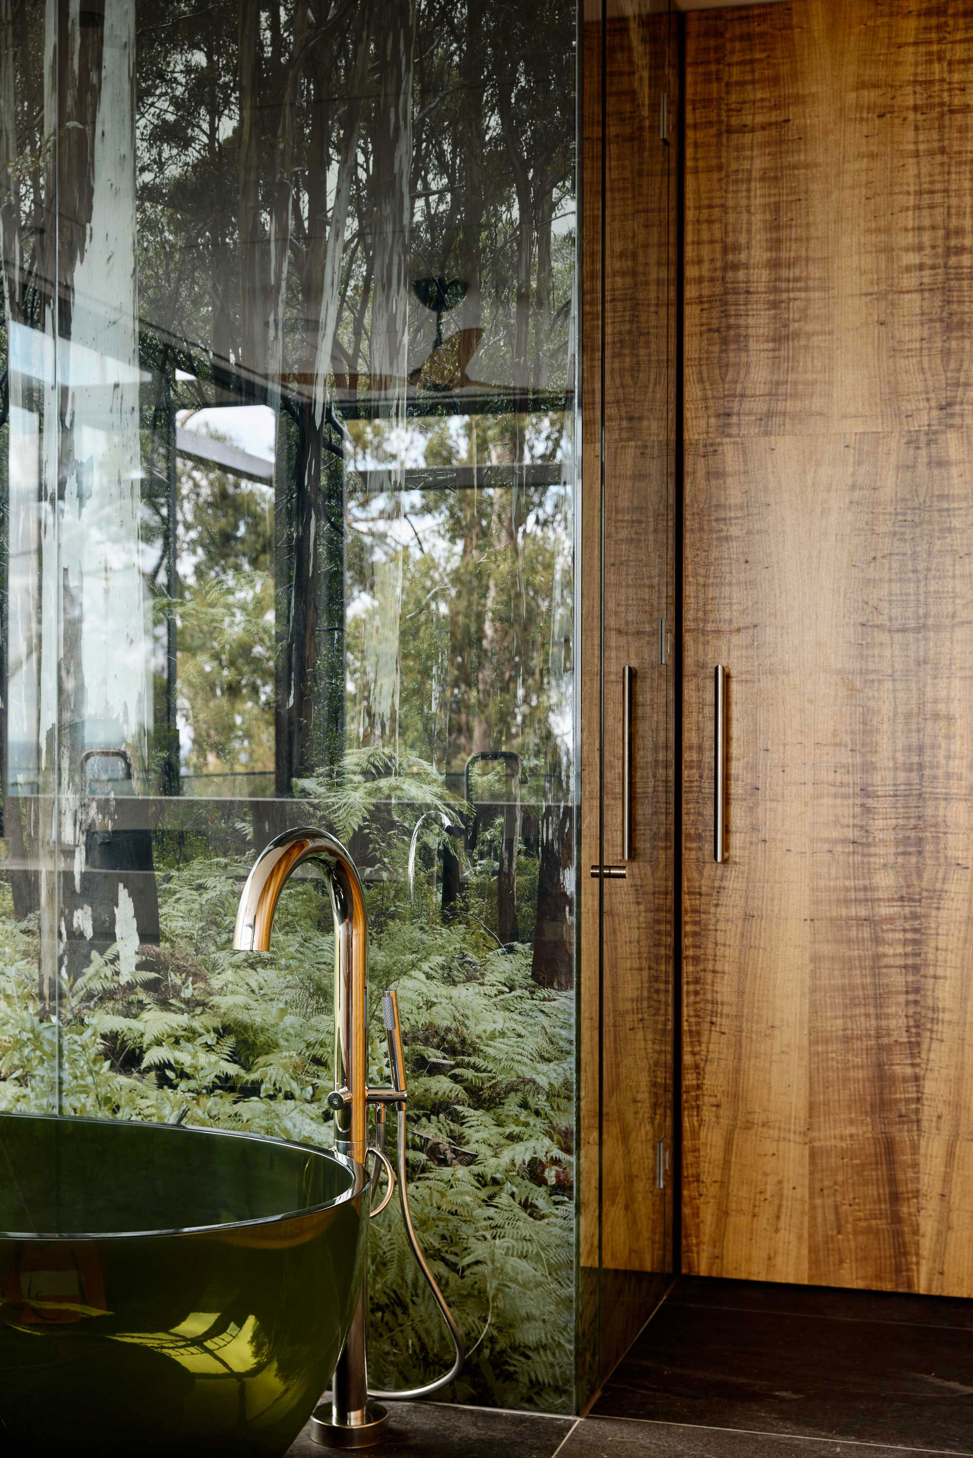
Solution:
<path fill-rule="evenodd" d="M 18 729 L 55 741 L 39 983 L 36 905 L 3 920 L 44 1096 L 327 1143 L 319 881 L 270 955 L 230 936 L 273 834 L 337 833 L 372 1006 L 400 990 L 416 1223 L 470 1344 L 454 1395 L 570 1408 L 575 7 L 9 9 L 38 76 L 57 39 L 57 124 L 38 90 L 36 139 L 4 141 L 58 184 L 58 350 L 16 427 L 18 490 L 57 525 L 18 569 L 57 643 L 54 707 Z M 379 1018 L 378 1077 L 382 1047 Z M 372 1236 L 372 1375 L 426 1379 L 445 1333 L 392 1212 Z"/>

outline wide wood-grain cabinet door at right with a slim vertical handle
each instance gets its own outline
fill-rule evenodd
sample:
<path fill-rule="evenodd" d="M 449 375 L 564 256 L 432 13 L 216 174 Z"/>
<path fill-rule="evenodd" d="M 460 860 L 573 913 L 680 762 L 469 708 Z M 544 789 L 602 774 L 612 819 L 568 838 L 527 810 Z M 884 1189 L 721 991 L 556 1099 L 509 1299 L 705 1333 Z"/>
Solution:
<path fill-rule="evenodd" d="M 947 0 L 687 16 L 693 1274 L 973 1296 L 972 64 Z"/>

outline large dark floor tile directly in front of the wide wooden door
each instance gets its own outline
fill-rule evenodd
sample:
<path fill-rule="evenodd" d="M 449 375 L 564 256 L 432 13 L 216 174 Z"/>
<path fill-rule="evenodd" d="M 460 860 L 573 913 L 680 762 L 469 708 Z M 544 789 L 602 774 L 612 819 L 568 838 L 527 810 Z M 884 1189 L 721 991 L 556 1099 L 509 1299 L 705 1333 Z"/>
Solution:
<path fill-rule="evenodd" d="M 973 1302 L 683 1279 L 594 1413 L 973 1454 Z"/>

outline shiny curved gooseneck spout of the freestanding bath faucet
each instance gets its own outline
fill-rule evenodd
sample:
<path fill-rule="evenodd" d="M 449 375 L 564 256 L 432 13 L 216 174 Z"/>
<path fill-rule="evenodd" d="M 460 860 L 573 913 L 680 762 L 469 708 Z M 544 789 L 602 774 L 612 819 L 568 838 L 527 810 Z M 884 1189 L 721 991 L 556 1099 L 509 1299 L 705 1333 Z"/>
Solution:
<path fill-rule="evenodd" d="M 277 901 L 306 860 L 319 862 L 334 914 L 334 1104 L 337 1149 L 359 1163 L 368 1147 L 368 923 L 365 894 L 354 862 L 325 830 L 286 830 L 254 862 L 236 910 L 233 949 L 270 951 Z"/>

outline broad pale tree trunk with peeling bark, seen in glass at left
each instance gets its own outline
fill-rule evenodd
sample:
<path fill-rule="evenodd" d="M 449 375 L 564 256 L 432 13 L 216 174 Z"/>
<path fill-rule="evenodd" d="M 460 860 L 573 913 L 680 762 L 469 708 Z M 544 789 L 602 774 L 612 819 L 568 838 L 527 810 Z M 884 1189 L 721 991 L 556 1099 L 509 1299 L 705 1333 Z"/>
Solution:
<path fill-rule="evenodd" d="M 112 841 L 115 851 L 125 847 L 121 860 L 104 850 L 95 866 L 86 857 L 92 835 L 112 834 L 95 824 L 92 780 L 127 767 L 118 792 L 127 781 L 128 796 L 146 795 L 153 716 L 140 563 L 136 0 L 101 3 L 83 17 L 64 4 L 58 57 L 58 334 L 70 347 L 60 354 L 55 462 L 47 451 L 60 560 L 57 582 L 45 585 L 47 596 L 60 595 L 61 618 L 57 793 L 60 854 L 70 869 L 60 879 L 58 932 L 69 977 L 98 942 L 118 943 L 124 975 L 134 971 L 139 942 L 159 935 L 152 840 L 137 811 L 130 834 Z M 79 357 L 85 367 L 73 369 Z M 57 637 L 45 634 L 48 642 Z"/>

